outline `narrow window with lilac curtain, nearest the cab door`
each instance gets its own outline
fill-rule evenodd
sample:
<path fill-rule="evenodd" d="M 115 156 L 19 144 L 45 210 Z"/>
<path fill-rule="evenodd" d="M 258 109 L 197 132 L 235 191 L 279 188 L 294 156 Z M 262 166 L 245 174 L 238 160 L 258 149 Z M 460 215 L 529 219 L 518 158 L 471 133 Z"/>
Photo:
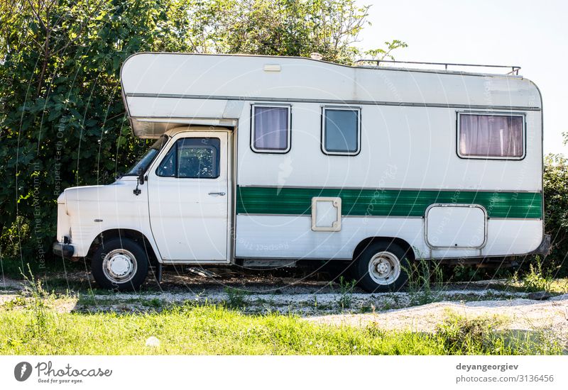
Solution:
<path fill-rule="evenodd" d="M 252 147 L 255 152 L 290 150 L 290 107 L 253 106 Z"/>

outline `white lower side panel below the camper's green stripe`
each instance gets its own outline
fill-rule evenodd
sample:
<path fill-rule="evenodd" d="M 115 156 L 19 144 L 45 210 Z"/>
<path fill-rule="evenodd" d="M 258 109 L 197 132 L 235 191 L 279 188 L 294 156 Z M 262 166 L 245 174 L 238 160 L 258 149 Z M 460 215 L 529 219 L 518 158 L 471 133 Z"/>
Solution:
<path fill-rule="evenodd" d="M 424 219 L 420 217 L 344 217 L 341 232 L 310 231 L 308 216 L 236 216 L 236 256 L 242 258 L 351 260 L 354 250 L 366 238 L 400 238 L 422 258 L 459 258 L 523 255 L 535 250 L 542 240 L 538 220 L 488 221 L 486 245 L 481 249 L 432 249 L 425 240 Z M 260 228 L 261 227 L 261 228 Z M 338 234 L 339 233 L 339 234 Z M 447 231 L 451 239 L 456 232 Z M 479 234 L 459 226 L 457 233 Z"/>

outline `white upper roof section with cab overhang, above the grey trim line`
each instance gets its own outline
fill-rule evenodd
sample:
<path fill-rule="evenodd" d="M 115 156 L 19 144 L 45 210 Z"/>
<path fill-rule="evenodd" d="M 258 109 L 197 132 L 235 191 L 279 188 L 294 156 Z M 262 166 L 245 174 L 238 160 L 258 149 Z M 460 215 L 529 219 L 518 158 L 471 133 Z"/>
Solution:
<path fill-rule="evenodd" d="M 137 97 L 540 108 L 540 94 L 523 77 L 349 67 L 303 57 L 138 53 L 124 63 L 121 82 L 129 108 Z"/>

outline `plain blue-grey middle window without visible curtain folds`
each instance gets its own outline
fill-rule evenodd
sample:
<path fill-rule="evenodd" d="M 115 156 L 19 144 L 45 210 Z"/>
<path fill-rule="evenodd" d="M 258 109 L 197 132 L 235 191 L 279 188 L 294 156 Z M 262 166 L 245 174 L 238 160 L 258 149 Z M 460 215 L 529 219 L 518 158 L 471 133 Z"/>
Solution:
<path fill-rule="evenodd" d="M 327 155 L 359 153 L 361 121 L 359 108 L 323 108 L 322 150 Z"/>

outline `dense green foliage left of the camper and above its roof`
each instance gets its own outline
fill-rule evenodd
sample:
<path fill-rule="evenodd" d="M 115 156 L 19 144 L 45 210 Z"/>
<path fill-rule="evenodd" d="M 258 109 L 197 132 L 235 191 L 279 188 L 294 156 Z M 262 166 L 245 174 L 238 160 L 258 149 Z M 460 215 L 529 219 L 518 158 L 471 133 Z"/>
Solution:
<path fill-rule="evenodd" d="M 0 257 L 43 262 L 58 194 L 111 182 L 146 147 L 131 136 L 121 99 L 126 57 L 320 52 L 349 63 L 361 55 L 354 43 L 368 9 L 354 0 L 2 2 Z"/>

